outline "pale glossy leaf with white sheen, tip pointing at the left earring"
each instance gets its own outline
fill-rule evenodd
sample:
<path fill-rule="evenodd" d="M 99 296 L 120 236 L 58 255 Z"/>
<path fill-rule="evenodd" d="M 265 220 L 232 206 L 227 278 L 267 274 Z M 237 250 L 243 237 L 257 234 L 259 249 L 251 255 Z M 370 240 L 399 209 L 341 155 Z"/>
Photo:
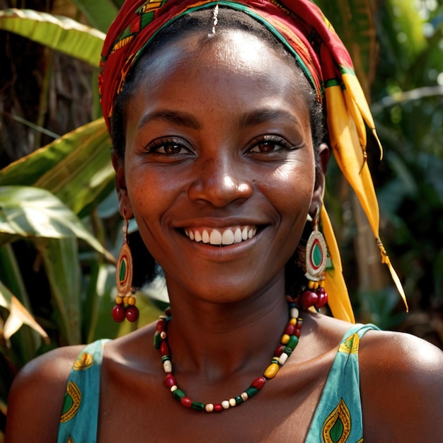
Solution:
<path fill-rule="evenodd" d="M 81 238 L 108 258 L 110 254 L 57 197 L 27 186 L 0 187 L 0 244 L 11 236 Z"/>

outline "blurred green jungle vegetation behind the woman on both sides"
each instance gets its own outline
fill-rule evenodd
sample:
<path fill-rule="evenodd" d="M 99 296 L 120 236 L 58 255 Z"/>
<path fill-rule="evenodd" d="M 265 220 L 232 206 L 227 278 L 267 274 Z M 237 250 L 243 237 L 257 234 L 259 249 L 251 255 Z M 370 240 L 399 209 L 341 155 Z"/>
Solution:
<path fill-rule="evenodd" d="M 110 318 L 122 235 L 96 86 L 104 33 L 122 3 L 0 0 L 0 442 L 8 389 L 25 362 L 131 328 Z M 410 306 L 406 314 L 332 163 L 326 205 L 357 321 L 443 347 L 443 5 L 316 3 L 372 104 L 384 146 L 382 162 L 368 149 L 381 238 Z M 145 292 L 159 297 L 157 289 Z M 137 305 L 135 327 L 157 316 L 152 297 Z"/>

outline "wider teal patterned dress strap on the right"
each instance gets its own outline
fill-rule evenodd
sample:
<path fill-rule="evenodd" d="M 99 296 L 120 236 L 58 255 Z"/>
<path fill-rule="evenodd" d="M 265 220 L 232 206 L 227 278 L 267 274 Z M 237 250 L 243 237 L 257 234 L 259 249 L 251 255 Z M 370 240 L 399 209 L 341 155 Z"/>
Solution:
<path fill-rule="evenodd" d="M 372 324 L 349 328 L 338 347 L 309 427 L 306 443 L 363 442 L 362 399 L 358 364 L 359 342 Z"/>

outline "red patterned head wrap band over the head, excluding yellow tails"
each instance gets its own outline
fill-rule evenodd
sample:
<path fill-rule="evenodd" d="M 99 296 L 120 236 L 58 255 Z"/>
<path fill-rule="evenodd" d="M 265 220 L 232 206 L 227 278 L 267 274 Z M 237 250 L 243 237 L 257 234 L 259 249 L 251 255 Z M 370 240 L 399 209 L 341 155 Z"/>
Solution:
<path fill-rule="evenodd" d="M 156 31 L 186 11 L 216 4 L 244 11 L 265 24 L 297 57 L 319 98 L 323 83 L 340 78 L 340 69 L 353 71 L 343 43 L 309 0 L 286 0 L 281 4 L 263 0 L 127 0 L 110 26 L 100 63 L 101 105 L 108 129 L 115 97 L 138 54 Z"/>

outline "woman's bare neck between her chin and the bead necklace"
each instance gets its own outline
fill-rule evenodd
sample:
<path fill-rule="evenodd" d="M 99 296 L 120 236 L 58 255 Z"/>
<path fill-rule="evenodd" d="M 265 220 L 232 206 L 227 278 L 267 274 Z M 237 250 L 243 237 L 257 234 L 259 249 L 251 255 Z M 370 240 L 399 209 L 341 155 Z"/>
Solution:
<path fill-rule="evenodd" d="M 282 283 L 229 304 L 187 297 L 190 294 L 169 287 L 168 343 L 174 371 L 198 374 L 207 383 L 239 372 L 263 372 L 289 319 Z"/>

